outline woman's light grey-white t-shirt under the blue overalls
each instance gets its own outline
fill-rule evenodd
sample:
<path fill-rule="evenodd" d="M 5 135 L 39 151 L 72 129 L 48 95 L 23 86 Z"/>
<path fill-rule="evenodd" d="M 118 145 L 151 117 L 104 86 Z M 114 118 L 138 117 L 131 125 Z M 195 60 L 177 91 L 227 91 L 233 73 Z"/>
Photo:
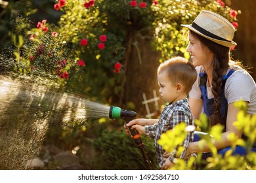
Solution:
<path fill-rule="evenodd" d="M 192 86 L 192 90 L 189 93 L 189 96 L 194 99 L 201 99 L 201 90 L 200 90 L 200 76 L 199 73 L 203 73 L 203 66 L 196 67 L 198 73 L 198 78 Z M 230 71 L 230 69 L 228 69 Z M 228 71 L 226 75 L 228 74 Z M 224 88 L 224 94 L 228 101 L 228 104 L 235 101 L 247 101 L 248 102 L 248 113 L 256 113 L 256 84 L 244 69 L 236 70 L 227 80 Z M 213 93 L 211 92 L 211 87 L 207 82 L 207 96 L 209 99 L 213 98 Z"/>

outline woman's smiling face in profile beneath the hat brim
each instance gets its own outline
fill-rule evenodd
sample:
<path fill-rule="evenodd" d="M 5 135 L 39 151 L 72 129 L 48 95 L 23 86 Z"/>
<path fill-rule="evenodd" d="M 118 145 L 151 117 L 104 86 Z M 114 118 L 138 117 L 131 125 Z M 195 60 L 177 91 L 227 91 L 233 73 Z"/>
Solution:
<path fill-rule="evenodd" d="M 204 67 L 209 65 L 213 60 L 213 54 L 210 52 L 209 48 L 204 46 L 198 38 L 194 37 L 192 33 L 189 32 L 188 35 L 189 44 L 186 48 L 186 51 L 190 53 L 190 57 L 192 59 L 193 65 Z M 207 68 L 207 67 L 205 67 Z"/>

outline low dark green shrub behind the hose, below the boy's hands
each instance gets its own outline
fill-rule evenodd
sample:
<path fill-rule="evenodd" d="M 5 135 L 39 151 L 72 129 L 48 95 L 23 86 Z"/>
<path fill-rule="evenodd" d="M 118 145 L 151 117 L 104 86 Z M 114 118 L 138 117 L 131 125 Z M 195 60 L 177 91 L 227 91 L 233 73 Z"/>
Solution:
<path fill-rule="evenodd" d="M 142 137 L 152 169 L 158 169 L 154 142 L 148 137 Z M 135 141 L 125 134 L 125 131 L 104 130 L 94 141 L 96 150 L 96 169 L 108 170 L 138 170 L 146 169 L 141 152 Z"/>

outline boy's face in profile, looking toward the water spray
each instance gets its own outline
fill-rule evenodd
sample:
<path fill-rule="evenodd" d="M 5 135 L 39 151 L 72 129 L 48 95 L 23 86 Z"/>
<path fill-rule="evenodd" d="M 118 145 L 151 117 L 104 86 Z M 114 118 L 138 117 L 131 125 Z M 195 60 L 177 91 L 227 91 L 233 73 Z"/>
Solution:
<path fill-rule="evenodd" d="M 168 103 L 175 103 L 178 101 L 177 98 L 179 97 L 179 93 L 177 92 L 177 86 L 171 83 L 164 71 L 158 74 L 158 84 L 160 86 L 159 92 L 161 93 L 163 100 Z"/>

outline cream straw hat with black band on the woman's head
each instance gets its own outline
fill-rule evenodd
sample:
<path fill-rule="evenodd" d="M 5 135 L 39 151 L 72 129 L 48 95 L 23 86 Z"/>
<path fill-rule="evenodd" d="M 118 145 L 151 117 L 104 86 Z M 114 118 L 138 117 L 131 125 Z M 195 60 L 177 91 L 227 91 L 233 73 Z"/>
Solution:
<path fill-rule="evenodd" d="M 192 24 L 181 26 L 223 46 L 229 48 L 236 46 L 236 42 L 232 41 L 234 26 L 226 18 L 214 12 L 202 10 Z"/>

